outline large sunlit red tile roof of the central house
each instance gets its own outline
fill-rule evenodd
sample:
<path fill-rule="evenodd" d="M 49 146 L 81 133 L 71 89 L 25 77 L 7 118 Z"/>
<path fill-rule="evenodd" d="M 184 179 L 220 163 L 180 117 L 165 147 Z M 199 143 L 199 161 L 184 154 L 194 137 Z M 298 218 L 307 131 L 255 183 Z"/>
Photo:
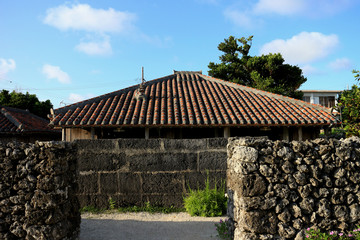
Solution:
<path fill-rule="evenodd" d="M 329 125 L 329 108 L 202 75 L 174 72 L 55 110 L 62 126 Z"/>

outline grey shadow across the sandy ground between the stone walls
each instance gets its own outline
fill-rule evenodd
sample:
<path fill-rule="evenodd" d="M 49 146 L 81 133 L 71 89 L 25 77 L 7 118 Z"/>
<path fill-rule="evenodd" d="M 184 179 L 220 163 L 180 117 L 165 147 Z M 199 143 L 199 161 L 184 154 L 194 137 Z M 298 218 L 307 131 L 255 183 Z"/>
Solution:
<path fill-rule="evenodd" d="M 218 240 L 215 223 L 82 219 L 80 240 Z"/>

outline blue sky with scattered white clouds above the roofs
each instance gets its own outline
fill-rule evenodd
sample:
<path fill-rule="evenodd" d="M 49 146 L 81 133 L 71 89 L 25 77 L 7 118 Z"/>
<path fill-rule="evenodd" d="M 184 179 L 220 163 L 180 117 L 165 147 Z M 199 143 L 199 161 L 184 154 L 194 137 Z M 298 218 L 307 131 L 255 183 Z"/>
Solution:
<path fill-rule="evenodd" d="M 219 62 L 230 35 L 280 52 L 301 89 L 343 90 L 360 69 L 357 0 L 0 0 L 0 89 L 54 108 Z"/>

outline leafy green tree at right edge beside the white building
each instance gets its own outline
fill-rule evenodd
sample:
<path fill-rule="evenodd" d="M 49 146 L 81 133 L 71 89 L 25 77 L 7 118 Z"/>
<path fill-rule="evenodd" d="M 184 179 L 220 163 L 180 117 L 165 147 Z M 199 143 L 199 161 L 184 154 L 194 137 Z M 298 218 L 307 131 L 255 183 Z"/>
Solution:
<path fill-rule="evenodd" d="M 359 70 L 353 70 L 355 79 L 360 81 Z M 360 136 L 360 87 L 354 84 L 350 90 L 341 93 L 338 111 L 346 136 Z"/>

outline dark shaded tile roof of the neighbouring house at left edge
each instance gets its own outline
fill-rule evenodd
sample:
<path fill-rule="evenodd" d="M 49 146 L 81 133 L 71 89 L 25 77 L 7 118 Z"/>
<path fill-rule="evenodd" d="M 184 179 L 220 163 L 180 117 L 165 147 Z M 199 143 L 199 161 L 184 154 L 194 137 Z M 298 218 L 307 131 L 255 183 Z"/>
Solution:
<path fill-rule="evenodd" d="M 29 111 L 0 107 L 0 133 L 54 132 L 48 124 L 49 121 Z"/>

